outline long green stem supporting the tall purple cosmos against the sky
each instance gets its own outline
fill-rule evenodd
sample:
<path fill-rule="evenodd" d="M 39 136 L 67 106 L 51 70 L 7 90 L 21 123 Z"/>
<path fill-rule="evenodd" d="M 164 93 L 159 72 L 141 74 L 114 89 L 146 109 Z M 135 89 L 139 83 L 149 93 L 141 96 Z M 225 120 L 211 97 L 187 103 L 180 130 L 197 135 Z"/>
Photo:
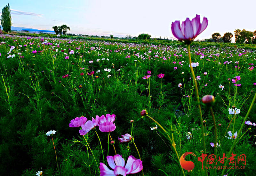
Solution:
<path fill-rule="evenodd" d="M 189 47 L 189 45 L 188 45 L 188 61 L 189 61 L 191 74 L 192 74 L 192 77 L 193 77 L 193 80 L 194 80 L 194 83 L 195 83 L 195 87 L 196 87 L 196 99 L 197 99 L 197 105 L 198 105 L 199 114 L 200 114 L 200 123 L 201 123 L 202 138 L 203 138 L 203 148 L 204 148 L 204 152 L 206 152 L 206 148 L 205 148 L 205 139 L 204 139 L 203 115 L 202 115 L 202 110 L 201 110 L 201 105 L 200 105 L 200 99 L 199 99 L 198 87 L 197 87 L 197 83 L 196 83 L 196 77 L 195 77 L 194 70 L 193 70 L 193 68 L 192 68 L 192 61 L 191 61 L 191 55 L 190 55 L 190 47 Z M 205 174 L 208 175 L 207 170 L 205 170 Z"/>

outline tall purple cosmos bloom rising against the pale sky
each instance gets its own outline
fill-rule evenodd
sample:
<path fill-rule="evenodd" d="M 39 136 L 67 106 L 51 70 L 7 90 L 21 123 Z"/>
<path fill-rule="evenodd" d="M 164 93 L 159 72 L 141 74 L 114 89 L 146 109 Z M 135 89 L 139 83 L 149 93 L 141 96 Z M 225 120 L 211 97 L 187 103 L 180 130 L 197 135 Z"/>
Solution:
<path fill-rule="evenodd" d="M 197 35 L 202 33 L 208 25 L 208 19 L 204 17 L 203 22 L 200 22 L 200 15 L 196 15 L 191 21 L 187 18 L 182 22 L 180 28 L 180 21 L 172 22 L 172 34 L 178 40 L 190 44 Z"/>

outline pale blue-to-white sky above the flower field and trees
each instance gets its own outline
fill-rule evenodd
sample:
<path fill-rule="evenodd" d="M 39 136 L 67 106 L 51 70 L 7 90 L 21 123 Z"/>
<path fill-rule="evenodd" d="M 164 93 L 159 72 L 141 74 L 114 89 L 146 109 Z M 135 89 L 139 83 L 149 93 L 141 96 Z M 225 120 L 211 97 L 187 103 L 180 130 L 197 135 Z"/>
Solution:
<path fill-rule="evenodd" d="M 196 40 L 215 32 L 234 34 L 236 29 L 256 30 L 255 0 L 1 0 L 0 9 L 10 4 L 12 26 L 53 30 L 67 24 L 69 33 L 138 36 L 171 39 L 171 24 L 196 16 L 208 18 L 208 26 Z M 1 12 L 0 12 L 1 13 Z M 232 41 L 234 42 L 234 38 Z"/>

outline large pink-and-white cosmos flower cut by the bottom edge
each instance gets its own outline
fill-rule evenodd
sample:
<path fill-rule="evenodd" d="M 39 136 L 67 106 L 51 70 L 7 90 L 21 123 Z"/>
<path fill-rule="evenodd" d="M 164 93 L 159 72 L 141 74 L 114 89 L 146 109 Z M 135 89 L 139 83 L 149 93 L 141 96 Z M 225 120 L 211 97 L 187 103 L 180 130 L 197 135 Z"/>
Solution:
<path fill-rule="evenodd" d="M 130 155 L 125 165 L 124 158 L 121 155 L 107 156 L 110 170 L 104 163 L 100 163 L 100 176 L 126 176 L 128 174 L 138 173 L 142 170 L 142 161 Z"/>

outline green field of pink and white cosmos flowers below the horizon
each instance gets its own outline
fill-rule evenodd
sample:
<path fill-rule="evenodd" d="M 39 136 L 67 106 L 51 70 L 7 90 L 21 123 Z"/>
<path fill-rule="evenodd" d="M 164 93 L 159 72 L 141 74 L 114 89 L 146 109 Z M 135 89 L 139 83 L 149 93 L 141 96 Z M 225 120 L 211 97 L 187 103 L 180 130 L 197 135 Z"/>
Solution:
<path fill-rule="evenodd" d="M 0 171 L 252 175 L 255 64 L 244 45 L 0 36 Z"/>

